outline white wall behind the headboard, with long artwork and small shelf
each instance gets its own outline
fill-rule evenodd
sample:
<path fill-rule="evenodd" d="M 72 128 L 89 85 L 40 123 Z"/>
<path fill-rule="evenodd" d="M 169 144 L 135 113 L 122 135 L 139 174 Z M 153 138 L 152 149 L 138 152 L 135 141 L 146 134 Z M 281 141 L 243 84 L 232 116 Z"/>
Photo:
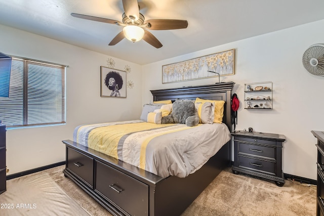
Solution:
<path fill-rule="evenodd" d="M 241 102 L 236 129 L 253 127 L 258 132 L 285 135 L 283 171 L 316 180 L 316 139 L 310 131 L 324 131 L 324 77 L 309 74 L 301 60 L 309 46 L 324 43 L 323 25 L 321 20 L 144 65 L 142 103 L 152 100 L 149 90 L 217 81 L 207 78 L 162 84 L 162 65 L 234 48 L 235 75 L 222 76 L 221 81 L 235 82 L 233 93 Z M 273 110 L 244 109 L 244 83 L 263 81 L 273 82 Z"/>

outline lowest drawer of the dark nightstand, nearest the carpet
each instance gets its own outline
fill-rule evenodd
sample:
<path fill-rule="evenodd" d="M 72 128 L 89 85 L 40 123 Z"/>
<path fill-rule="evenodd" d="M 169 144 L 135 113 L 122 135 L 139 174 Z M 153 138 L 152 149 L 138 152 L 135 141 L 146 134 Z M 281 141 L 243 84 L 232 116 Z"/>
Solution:
<path fill-rule="evenodd" d="M 266 172 L 267 174 L 271 174 L 271 175 L 275 175 L 276 173 L 275 162 L 260 160 L 260 159 L 245 157 L 245 156 L 238 156 L 238 160 L 239 160 L 238 162 L 239 167 L 256 169 L 258 171 Z"/>

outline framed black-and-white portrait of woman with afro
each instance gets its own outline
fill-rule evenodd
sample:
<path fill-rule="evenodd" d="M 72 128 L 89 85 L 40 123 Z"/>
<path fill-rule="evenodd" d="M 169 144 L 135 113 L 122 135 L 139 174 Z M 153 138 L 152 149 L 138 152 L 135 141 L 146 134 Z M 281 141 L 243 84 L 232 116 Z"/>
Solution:
<path fill-rule="evenodd" d="M 127 72 L 101 66 L 101 97 L 126 98 Z"/>

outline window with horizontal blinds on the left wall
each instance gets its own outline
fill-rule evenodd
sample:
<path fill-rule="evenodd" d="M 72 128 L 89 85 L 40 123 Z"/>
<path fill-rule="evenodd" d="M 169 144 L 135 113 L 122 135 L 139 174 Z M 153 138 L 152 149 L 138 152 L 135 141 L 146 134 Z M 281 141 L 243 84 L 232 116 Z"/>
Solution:
<path fill-rule="evenodd" d="M 13 57 L 0 120 L 7 128 L 65 123 L 65 66 Z"/>

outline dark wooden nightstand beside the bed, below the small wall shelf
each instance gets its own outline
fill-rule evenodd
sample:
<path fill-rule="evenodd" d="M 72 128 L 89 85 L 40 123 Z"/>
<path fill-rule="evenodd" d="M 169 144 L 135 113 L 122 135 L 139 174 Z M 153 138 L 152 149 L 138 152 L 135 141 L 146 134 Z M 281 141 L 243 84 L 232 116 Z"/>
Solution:
<path fill-rule="evenodd" d="M 284 186 L 282 172 L 282 143 L 284 135 L 235 131 L 231 133 L 234 140 L 234 174 L 245 174 L 273 180 L 279 187 Z"/>

